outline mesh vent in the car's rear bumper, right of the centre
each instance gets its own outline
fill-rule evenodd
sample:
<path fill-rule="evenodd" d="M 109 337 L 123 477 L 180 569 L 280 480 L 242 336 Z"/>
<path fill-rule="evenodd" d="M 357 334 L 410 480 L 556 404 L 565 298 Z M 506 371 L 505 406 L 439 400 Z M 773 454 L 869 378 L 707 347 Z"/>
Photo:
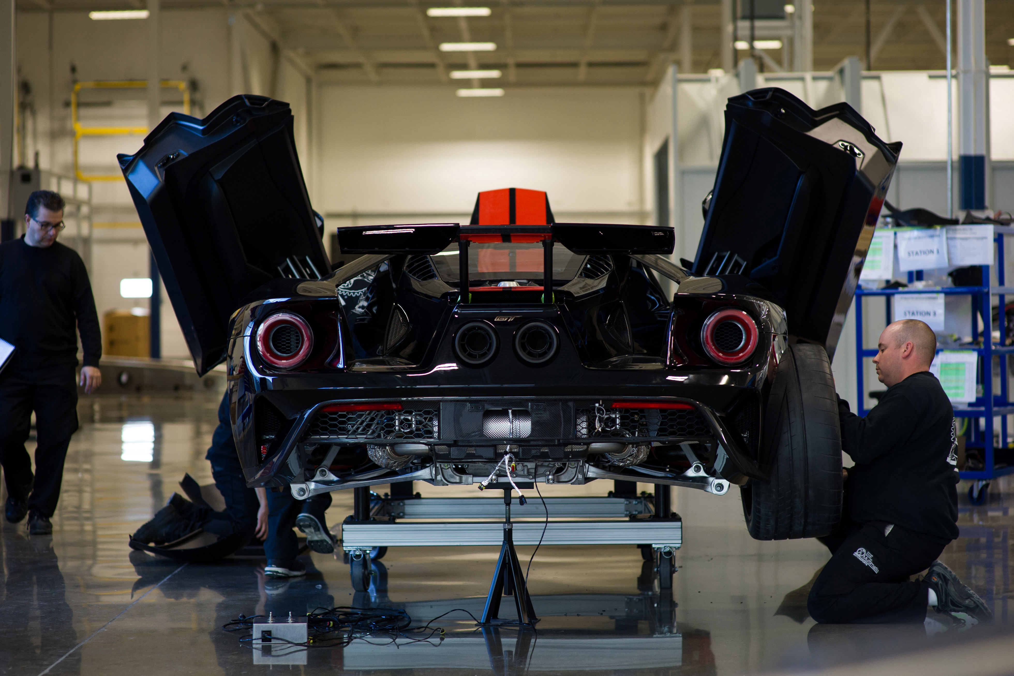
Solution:
<path fill-rule="evenodd" d="M 597 419 L 594 410 L 577 411 L 578 438 L 711 437 L 697 410 L 686 408 L 613 408 Z"/>

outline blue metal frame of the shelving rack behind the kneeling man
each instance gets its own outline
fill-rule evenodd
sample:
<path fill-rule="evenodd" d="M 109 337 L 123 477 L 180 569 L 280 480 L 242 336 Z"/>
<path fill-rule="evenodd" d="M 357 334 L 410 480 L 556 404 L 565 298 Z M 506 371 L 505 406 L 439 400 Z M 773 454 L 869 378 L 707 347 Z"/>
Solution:
<path fill-rule="evenodd" d="M 865 407 L 866 399 L 862 396 L 864 387 L 864 360 L 875 357 L 876 350 L 867 350 L 863 346 L 863 299 L 872 296 L 884 296 L 886 300 L 887 322 L 891 321 L 891 300 L 895 296 L 908 294 L 945 294 L 948 296 L 970 296 L 971 297 L 971 346 L 959 348 L 946 348 L 948 351 L 974 352 L 979 355 L 977 374 L 975 376 L 979 396 L 967 404 L 954 404 L 954 417 L 966 419 L 967 432 L 965 433 L 967 442 L 965 448 L 982 449 L 983 464 L 982 469 L 966 470 L 960 472 L 963 479 L 974 481 L 968 489 L 968 498 L 973 505 L 982 505 L 986 502 L 987 491 L 990 481 L 1005 474 L 1014 473 L 1014 464 L 1007 464 L 1004 460 L 997 462 L 994 442 L 994 430 L 996 418 L 1000 418 L 999 448 L 1007 449 L 1010 434 L 1007 429 L 1007 417 L 1014 414 L 1014 402 L 1011 401 L 1009 385 L 1009 364 L 1011 355 L 1014 355 L 1014 346 L 1007 345 L 1007 322 L 1003 308 L 1006 307 L 1006 297 L 1014 296 L 1014 287 L 1005 286 L 1004 272 L 1004 237 L 1014 235 L 1014 227 L 994 226 L 994 243 L 996 244 L 996 277 L 997 286 L 991 286 L 992 266 L 981 266 L 983 270 L 982 284 L 980 286 L 964 287 L 944 287 L 927 289 L 857 289 L 856 290 L 856 372 L 857 385 L 860 392 L 859 416 L 866 416 L 869 409 Z M 909 273 L 909 283 L 922 281 L 923 271 Z M 996 343 L 990 340 L 993 334 L 993 297 L 999 297 L 998 324 L 1000 340 Z M 980 325 L 982 319 L 982 325 Z M 977 347 L 981 346 L 981 347 Z M 942 350 L 938 350 L 939 354 Z M 1000 361 L 1000 386 L 999 392 L 994 387 L 993 368 L 994 359 Z M 990 365 L 989 370 L 985 366 Z M 982 421 L 985 421 L 985 425 Z"/>

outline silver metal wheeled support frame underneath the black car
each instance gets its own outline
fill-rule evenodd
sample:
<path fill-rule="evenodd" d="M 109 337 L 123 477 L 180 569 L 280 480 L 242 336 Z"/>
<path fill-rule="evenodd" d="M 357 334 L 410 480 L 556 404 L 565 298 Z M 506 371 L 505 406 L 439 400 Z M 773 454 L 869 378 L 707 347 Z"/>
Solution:
<path fill-rule="evenodd" d="M 531 481 L 515 481 L 522 491 Z M 673 552 L 682 544 L 682 521 L 672 513 L 668 485 L 656 484 L 654 495 L 635 495 L 637 484 L 617 481 L 608 497 L 527 497 L 514 504 L 514 544 L 635 544 L 642 556 L 654 558 L 660 586 L 672 584 Z M 488 492 L 499 494 L 510 483 L 498 481 Z M 422 498 L 411 482 L 391 484 L 381 498 L 368 487 L 354 491 L 354 514 L 342 524 L 341 547 L 349 555 L 353 588 L 369 587 L 371 558 L 389 546 L 496 546 L 503 541 L 504 501 L 500 498 Z M 661 518 L 657 515 L 667 515 Z M 545 528 L 545 535 L 544 535 Z M 362 587 L 362 589 L 360 589 Z"/>

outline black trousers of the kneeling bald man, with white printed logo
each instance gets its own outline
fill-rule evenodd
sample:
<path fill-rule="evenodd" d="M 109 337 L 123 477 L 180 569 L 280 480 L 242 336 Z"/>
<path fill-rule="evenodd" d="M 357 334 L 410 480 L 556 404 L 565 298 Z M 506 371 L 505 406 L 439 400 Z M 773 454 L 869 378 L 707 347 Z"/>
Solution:
<path fill-rule="evenodd" d="M 888 525 L 843 517 L 838 530 L 818 538 L 831 557 L 810 589 L 810 617 L 829 623 L 926 619 L 929 587 L 909 577 L 928 569 L 945 545 Z"/>

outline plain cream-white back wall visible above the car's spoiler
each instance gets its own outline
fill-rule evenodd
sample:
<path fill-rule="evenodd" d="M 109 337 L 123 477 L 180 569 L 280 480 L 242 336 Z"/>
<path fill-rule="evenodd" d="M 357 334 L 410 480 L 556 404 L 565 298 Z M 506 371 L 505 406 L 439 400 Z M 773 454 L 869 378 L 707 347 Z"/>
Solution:
<path fill-rule="evenodd" d="M 320 85 L 314 208 L 329 229 L 454 217 L 480 191 L 546 191 L 558 220 L 640 223 L 641 99 L 632 88 Z"/>

